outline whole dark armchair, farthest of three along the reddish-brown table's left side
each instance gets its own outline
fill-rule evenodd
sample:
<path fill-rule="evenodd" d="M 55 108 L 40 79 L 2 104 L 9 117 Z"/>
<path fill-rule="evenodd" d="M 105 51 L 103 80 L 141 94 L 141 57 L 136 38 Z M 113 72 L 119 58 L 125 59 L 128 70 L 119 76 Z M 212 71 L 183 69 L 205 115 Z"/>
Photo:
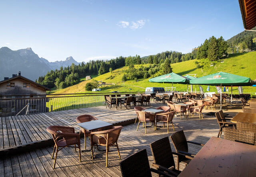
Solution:
<path fill-rule="evenodd" d="M 178 155 L 177 156 L 177 168 L 179 169 L 180 162 L 188 165 L 188 163 L 194 158 L 194 154 L 188 152 L 188 143 L 196 144 L 204 146 L 202 143 L 196 143 L 194 141 L 187 141 L 183 130 L 176 131 L 170 136 L 172 143 L 174 145 L 174 148 L 177 153 L 186 154 L 186 157 L 184 155 Z"/>

